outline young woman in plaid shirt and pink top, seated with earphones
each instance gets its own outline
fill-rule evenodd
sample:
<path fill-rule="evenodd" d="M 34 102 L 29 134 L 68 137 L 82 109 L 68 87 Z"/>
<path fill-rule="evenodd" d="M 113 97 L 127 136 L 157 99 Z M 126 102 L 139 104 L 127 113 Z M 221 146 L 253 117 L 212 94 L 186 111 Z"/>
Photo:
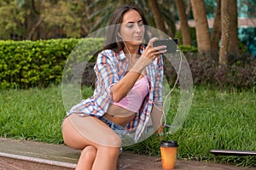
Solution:
<path fill-rule="evenodd" d="M 67 112 L 65 144 L 82 150 L 76 169 L 117 168 L 122 135 L 135 131 L 138 141 L 149 119 L 160 128 L 163 61 L 166 46 L 148 42 L 147 21 L 136 6 L 113 11 L 105 47 L 98 54 L 96 89 Z M 143 45 L 147 42 L 147 47 Z"/>

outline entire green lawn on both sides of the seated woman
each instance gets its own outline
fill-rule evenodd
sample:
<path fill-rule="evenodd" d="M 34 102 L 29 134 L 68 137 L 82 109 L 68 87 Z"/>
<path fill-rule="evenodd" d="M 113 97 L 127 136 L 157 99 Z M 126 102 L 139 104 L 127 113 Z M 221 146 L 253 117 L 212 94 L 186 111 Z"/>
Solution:
<path fill-rule="evenodd" d="M 84 89 L 90 96 L 91 88 Z M 177 97 L 176 97 L 177 96 Z M 172 93 L 172 113 L 176 113 L 178 91 Z M 177 133 L 166 139 L 177 140 L 179 159 L 229 162 L 256 166 L 255 156 L 213 156 L 210 150 L 256 150 L 256 93 L 252 90 L 194 89 L 192 107 Z M 66 115 L 61 88 L 31 88 L 0 91 L 0 136 L 62 144 L 61 122 Z M 154 135 L 124 150 L 159 156 L 159 140 Z"/>

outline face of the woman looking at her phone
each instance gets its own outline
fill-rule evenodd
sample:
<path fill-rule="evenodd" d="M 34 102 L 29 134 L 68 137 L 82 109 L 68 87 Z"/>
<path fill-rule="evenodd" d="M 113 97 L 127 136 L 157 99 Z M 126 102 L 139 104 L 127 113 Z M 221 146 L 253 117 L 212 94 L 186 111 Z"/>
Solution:
<path fill-rule="evenodd" d="M 123 15 L 120 34 L 126 45 L 137 46 L 143 42 L 145 27 L 142 16 L 131 9 Z"/>

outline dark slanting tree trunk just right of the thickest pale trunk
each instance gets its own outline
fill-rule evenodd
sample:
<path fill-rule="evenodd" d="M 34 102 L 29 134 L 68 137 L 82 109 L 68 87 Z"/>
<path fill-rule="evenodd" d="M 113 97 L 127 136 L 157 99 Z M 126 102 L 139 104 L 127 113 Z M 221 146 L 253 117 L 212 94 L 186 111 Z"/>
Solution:
<path fill-rule="evenodd" d="M 215 10 L 214 22 L 213 22 L 213 26 L 212 26 L 212 35 L 211 35 L 212 49 L 216 49 L 216 50 L 218 50 L 218 42 L 221 37 L 220 8 L 221 8 L 221 0 L 218 0 L 217 7 Z"/>

